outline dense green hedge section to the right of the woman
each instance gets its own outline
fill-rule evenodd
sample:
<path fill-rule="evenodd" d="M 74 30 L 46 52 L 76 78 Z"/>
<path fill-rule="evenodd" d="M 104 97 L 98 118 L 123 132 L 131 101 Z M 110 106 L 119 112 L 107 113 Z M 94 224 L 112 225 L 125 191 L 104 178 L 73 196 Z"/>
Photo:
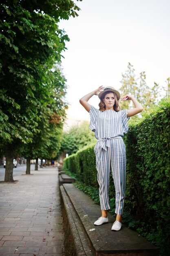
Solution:
<path fill-rule="evenodd" d="M 130 127 L 126 137 L 128 157 L 126 204 L 127 207 L 132 205 L 131 213 L 137 213 L 147 225 L 154 220 L 152 228 L 155 232 L 152 238 L 162 251 L 167 248 L 165 244 L 162 247 L 162 240 L 170 236 L 169 135 L 170 101 L 162 100 L 160 105 L 155 107 L 155 111 L 146 115 L 141 123 Z M 132 155 L 133 158 L 130 157 Z"/>

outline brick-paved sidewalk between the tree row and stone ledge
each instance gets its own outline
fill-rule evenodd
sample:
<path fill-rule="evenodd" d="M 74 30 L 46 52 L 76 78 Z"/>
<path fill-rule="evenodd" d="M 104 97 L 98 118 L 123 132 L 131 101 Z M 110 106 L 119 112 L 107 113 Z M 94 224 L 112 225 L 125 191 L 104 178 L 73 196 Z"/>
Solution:
<path fill-rule="evenodd" d="M 63 256 L 57 169 L 14 179 L 0 183 L 0 256 Z"/>

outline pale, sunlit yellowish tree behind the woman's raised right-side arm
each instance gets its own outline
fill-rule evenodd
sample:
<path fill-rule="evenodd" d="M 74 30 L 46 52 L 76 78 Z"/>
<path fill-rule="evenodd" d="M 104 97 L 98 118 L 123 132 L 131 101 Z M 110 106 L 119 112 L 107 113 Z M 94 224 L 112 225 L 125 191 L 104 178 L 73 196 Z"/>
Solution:
<path fill-rule="evenodd" d="M 135 75 L 135 69 L 128 63 L 128 70 L 125 74 L 122 74 L 121 80 L 121 95 L 132 94 L 143 106 L 144 110 L 149 110 L 155 103 L 157 103 L 159 97 L 159 85 L 154 83 L 152 88 L 146 84 L 146 73 L 141 72 L 137 78 Z M 123 108 L 130 108 L 132 106 L 131 101 L 120 101 L 120 105 Z M 133 117 L 135 118 L 135 117 Z"/>

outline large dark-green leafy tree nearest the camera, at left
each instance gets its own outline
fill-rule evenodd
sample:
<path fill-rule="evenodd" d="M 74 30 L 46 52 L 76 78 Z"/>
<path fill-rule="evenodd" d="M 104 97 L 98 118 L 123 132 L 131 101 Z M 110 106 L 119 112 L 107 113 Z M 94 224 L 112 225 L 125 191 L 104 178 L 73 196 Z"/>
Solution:
<path fill-rule="evenodd" d="M 20 143 L 39 132 L 39 113 L 53 97 L 55 64 L 65 41 L 57 23 L 77 16 L 68 0 L 2 0 L 0 3 L 0 143 L 6 153 L 5 181 L 13 182 L 11 159 Z M 57 86 L 56 86 L 57 88 Z M 58 89 L 57 89 L 58 90 Z"/>

